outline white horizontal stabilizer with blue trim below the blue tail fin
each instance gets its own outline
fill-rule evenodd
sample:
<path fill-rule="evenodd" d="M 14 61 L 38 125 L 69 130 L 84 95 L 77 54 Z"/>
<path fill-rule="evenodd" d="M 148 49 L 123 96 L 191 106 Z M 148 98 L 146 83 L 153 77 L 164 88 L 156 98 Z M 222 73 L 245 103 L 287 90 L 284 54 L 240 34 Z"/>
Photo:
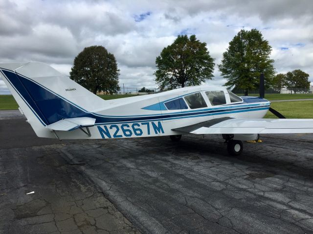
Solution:
<path fill-rule="evenodd" d="M 46 128 L 56 131 L 72 131 L 81 127 L 94 126 L 96 119 L 89 117 L 64 118 L 55 123 L 47 125 Z"/>

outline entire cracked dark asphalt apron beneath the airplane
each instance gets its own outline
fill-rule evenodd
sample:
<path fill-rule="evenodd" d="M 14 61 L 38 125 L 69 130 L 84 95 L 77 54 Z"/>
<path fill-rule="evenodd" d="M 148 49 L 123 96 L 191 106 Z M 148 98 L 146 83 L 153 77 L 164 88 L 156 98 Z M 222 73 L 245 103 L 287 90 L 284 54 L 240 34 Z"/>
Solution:
<path fill-rule="evenodd" d="M 313 135 L 261 139 L 231 157 L 215 135 L 60 142 L 2 119 L 0 233 L 313 233 Z"/>

